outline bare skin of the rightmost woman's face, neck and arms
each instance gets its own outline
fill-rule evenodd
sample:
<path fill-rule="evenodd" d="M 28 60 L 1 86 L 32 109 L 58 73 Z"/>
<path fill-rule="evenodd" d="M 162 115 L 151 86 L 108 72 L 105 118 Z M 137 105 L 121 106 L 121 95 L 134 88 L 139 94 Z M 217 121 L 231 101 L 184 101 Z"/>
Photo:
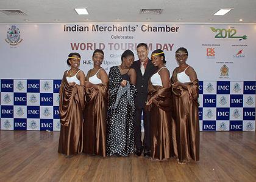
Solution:
<path fill-rule="evenodd" d="M 187 59 L 188 59 L 188 55 L 186 52 L 179 51 L 176 53 L 176 60 L 179 64 L 178 73 L 183 72 L 188 67 L 188 64 L 186 63 Z M 197 75 L 196 75 L 196 72 L 194 71 L 193 67 L 188 67 L 188 69 L 185 71 L 185 73 L 190 77 L 190 81 L 194 81 L 197 79 Z M 185 83 L 180 83 L 179 81 L 172 84 L 172 87 L 173 88 L 183 87 L 184 89 L 188 90 L 188 85 Z"/>

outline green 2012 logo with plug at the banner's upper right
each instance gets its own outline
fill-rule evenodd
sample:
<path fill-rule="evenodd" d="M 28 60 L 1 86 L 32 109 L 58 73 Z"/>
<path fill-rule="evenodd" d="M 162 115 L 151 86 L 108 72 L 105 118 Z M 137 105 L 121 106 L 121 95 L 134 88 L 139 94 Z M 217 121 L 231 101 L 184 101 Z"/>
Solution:
<path fill-rule="evenodd" d="M 245 40 L 247 39 L 246 35 L 243 36 L 236 36 L 236 29 L 215 29 L 215 27 L 210 27 L 210 29 L 212 30 L 212 32 L 217 33 L 215 35 L 216 39 L 225 39 L 225 38 L 229 38 L 229 39 L 239 39 L 241 40 Z"/>

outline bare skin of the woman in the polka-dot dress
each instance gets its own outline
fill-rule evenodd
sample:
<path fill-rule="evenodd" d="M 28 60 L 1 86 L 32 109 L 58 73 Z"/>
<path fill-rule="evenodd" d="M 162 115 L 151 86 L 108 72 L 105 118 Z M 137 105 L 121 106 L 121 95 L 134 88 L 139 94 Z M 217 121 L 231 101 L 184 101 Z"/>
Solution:
<path fill-rule="evenodd" d="M 132 66 L 133 61 L 134 61 L 134 56 L 132 56 L 132 55 L 124 57 L 121 65 L 119 65 L 118 67 L 121 72 L 121 75 L 127 73 L 130 76 L 130 83 L 135 85 L 136 84 L 136 72 L 135 72 L 135 69 L 130 68 Z M 125 79 L 123 79 L 123 81 L 121 82 L 121 86 L 125 87 L 126 84 L 127 84 L 127 81 Z"/>

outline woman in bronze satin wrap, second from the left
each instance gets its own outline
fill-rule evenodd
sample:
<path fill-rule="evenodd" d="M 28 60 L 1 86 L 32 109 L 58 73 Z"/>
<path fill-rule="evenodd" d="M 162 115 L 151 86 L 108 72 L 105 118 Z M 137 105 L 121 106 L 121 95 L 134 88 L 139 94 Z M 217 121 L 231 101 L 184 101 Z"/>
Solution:
<path fill-rule="evenodd" d="M 93 69 L 85 81 L 84 150 L 90 155 L 106 156 L 108 76 L 101 67 L 104 52 L 93 52 Z"/>

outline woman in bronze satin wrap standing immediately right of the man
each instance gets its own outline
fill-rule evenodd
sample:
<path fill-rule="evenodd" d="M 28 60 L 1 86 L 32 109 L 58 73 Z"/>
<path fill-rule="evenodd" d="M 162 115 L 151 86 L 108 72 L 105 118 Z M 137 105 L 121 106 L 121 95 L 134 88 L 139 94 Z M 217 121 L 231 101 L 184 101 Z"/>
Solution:
<path fill-rule="evenodd" d="M 151 115 L 151 159 L 167 160 L 174 156 L 169 70 L 165 67 L 165 53 L 162 50 L 152 52 L 151 60 L 157 67 L 157 71 L 149 79 L 146 103 L 146 109 Z"/>

